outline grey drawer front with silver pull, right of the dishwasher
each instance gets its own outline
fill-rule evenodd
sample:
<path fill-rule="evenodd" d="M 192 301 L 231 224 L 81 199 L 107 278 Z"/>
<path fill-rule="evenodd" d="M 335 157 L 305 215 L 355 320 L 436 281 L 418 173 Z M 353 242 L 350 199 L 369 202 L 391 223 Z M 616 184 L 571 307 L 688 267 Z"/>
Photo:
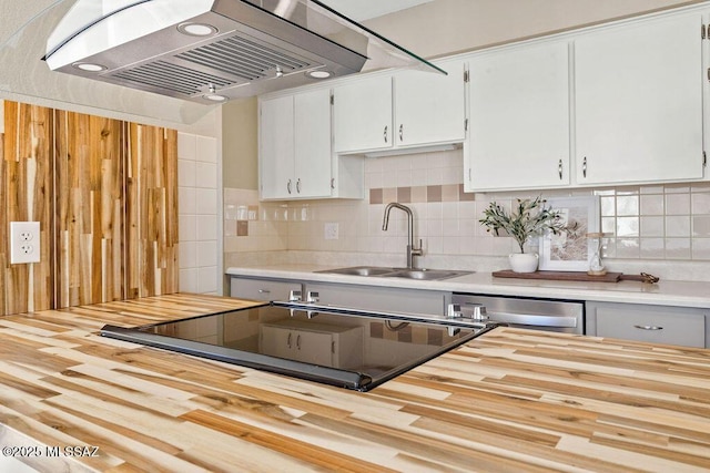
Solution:
<path fill-rule="evenodd" d="M 704 348 L 706 318 L 678 308 L 597 308 L 597 336 Z"/>

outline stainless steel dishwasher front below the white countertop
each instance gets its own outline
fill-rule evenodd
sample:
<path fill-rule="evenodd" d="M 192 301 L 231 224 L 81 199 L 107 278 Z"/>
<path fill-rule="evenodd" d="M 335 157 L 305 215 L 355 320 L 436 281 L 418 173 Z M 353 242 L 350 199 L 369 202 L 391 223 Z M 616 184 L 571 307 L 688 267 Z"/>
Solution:
<path fill-rule="evenodd" d="M 567 333 L 585 332 L 585 302 L 581 300 L 537 299 L 454 292 L 452 304 L 464 313 L 484 306 L 490 321 L 510 327 Z"/>

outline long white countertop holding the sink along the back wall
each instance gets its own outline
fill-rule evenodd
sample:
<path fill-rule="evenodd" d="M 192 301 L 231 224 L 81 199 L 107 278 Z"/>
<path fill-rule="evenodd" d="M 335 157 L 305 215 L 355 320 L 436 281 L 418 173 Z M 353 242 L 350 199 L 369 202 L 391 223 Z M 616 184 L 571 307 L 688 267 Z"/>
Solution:
<path fill-rule="evenodd" d="M 710 282 L 673 280 L 661 280 L 657 284 L 639 281 L 578 282 L 497 278 L 491 276 L 490 273 L 473 273 L 439 281 L 423 281 L 392 277 L 363 277 L 314 273 L 325 269 L 335 268 L 312 265 L 246 266 L 231 267 L 226 270 L 226 274 L 230 276 L 297 279 L 301 281 L 338 282 L 405 289 L 710 308 Z"/>

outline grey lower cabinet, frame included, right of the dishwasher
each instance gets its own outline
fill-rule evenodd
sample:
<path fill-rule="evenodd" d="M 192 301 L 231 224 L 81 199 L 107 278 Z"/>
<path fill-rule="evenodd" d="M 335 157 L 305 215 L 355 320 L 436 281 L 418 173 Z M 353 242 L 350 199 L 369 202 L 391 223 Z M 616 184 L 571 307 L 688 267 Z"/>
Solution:
<path fill-rule="evenodd" d="M 587 302 L 587 335 L 706 348 L 710 309 Z"/>

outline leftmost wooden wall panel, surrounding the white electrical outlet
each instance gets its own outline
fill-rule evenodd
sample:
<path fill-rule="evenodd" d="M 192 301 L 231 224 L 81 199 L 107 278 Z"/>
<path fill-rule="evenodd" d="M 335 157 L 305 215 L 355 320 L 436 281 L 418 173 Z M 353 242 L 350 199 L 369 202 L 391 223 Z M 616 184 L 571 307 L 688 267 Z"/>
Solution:
<path fill-rule="evenodd" d="M 52 301 L 52 138 L 50 109 L 4 102 L 0 164 L 0 313 L 45 310 Z M 40 223 L 40 263 L 10 264 L 10 222 Z"/>

